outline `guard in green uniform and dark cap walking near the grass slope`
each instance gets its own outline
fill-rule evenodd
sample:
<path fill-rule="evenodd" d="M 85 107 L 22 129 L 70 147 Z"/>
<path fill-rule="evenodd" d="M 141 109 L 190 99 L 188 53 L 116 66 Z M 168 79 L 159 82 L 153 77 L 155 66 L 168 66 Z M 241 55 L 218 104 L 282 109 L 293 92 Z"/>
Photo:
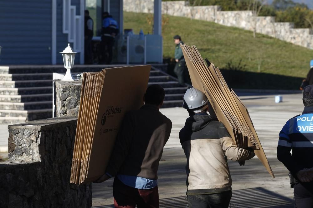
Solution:
<path fill-rule="evenodd" d="M 176 65 L 174 68 L 174 73 L 177 75 L 179 84 L 185 85 L 186 78 L 186 61 L 184 55 L 182 54 L 182 49 L 180 48 L 180 44 L 182 42 L 182 38 L 179 35 L 174 36 L 174 43 L 176 44 L 175 48 L 175 61 Z"/>

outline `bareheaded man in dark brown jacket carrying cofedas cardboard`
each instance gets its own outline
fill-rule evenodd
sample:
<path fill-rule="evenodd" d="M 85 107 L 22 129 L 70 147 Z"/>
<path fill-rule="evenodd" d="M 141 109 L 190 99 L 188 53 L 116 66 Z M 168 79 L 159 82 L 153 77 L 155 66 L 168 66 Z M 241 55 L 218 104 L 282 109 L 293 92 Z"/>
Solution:
<path fill-rule="evenodd" d="M 171 120 L 159 111 L 164 97 L 160 85 L 150 85 L 145 105 L 125 115 L 106 173 L 96 181 L 115 176 L 115 207 L 159 207 L 157 170 L 172 129 Z"/>

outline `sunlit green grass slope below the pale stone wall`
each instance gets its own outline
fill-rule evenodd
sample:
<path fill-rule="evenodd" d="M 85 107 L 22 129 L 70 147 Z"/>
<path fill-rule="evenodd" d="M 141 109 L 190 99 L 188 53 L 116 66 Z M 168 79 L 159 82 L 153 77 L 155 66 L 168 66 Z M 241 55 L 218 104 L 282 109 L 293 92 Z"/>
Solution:
<path fill-rule="evenodd" d="M 152 27 L 148 25 L 147 17 L 152 15 L 124 12 L 124 28 L 132 28 L 136 34 L 142 29 L 146 34 Z M 310 49 L 262 34 L 253 38 L 251 31 L 213 22 L 167 15 L 164 18 L 168 18 L 168 23 L 162 28 L 164 59 L 173 58 L 173 36 L 177 34 L 185 43 L 196 45 L 203 58 L 208 58 L 221 69 L 227 69 L 230 61 L 238 65 L 241 60 L 241 64 L 246 65 L 244 70 L 249 72 L 259 73 L 260 63 L 261 73 L 305 77 L 313 59 Z M 277 80 L 281 81 L 284 80 Z"/>

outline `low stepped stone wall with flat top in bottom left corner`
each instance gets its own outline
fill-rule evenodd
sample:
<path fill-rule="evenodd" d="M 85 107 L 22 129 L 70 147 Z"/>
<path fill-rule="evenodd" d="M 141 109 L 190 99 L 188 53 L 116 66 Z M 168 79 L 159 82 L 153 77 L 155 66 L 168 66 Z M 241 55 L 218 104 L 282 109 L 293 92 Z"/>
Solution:
<path fill-rule="evenodd" d="M 69 184 L 76 117 L 10 125 L 0 207 L 90 207 L 91 184 Z"/>

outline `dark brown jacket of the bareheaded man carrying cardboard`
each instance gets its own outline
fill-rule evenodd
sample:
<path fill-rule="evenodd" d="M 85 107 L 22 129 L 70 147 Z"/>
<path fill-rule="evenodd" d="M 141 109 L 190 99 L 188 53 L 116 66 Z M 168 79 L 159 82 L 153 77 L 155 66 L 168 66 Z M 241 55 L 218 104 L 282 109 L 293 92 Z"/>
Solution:
<path fill-rule="evenodd" d="M 106 172 L 157 179 L 163 147 L 172 122 L 156 105 L 145 104 L 125 115 Z"/>

